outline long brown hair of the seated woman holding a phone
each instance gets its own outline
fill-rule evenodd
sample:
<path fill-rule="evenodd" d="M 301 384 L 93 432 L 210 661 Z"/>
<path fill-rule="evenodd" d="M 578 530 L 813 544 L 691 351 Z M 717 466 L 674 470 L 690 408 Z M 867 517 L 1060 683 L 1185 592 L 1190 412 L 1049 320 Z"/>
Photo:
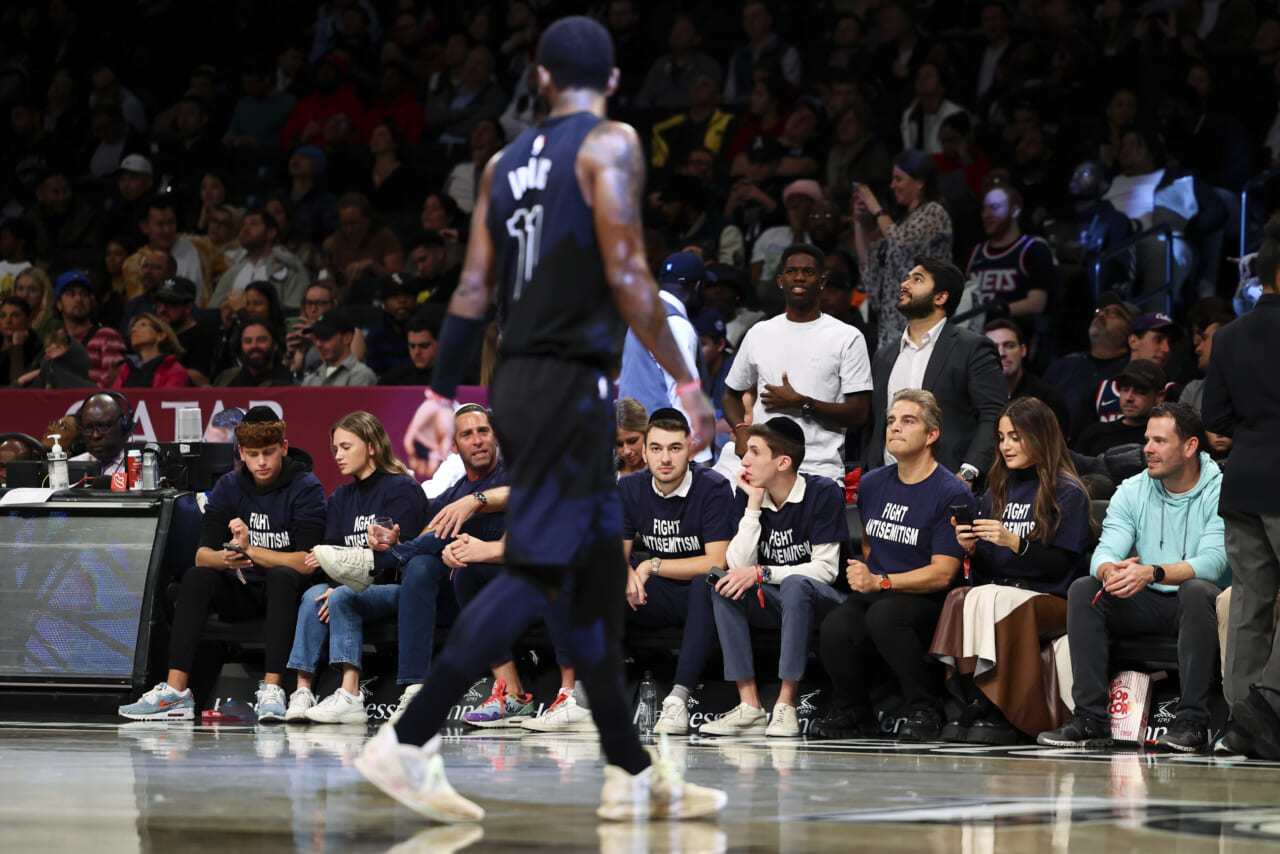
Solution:
<path fill-rule="evenodd" d="M 1059 484 L 1066 480 L 1075 484 L 1082 494 L 1088 493 L 1075 471 L 1075 462 L 1071 461 L 1071 452 L 1066 447 L 1066 439 L 1062 438 L 1062 428 L 1059 426 L 1053 410 L 1034 397 L 1019 397 L 1010 401 L 996 417 L 993 431 L 996 462 L 987 472 L 992 519 L 1004 516 L 1005 506 L 1009 504 L 1009 466 L 1000 453 L 998 438 L 1000 423 L 1005 417 L 1012 424 L 1014 431 L 1023 443 L 1023 449 L 1032 458 L 1032 465 L 1036 466 L 1036 472 L 1039 476 L 1036 503 L 1032 507 L 1036 528 L 1030 533 L 1030 539 L 1048 545 L 1062 519 L 1062 508 L 1057 503 Z"/>

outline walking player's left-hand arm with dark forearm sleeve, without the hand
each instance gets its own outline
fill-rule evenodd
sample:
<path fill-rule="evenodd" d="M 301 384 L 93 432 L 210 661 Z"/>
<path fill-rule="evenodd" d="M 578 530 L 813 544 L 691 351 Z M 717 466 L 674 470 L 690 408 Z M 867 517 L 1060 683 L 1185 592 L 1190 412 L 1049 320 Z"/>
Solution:
<path fill-rule="evenodd" d="M 476 206 L 471 214 L 471 237 L 467 239 L 467 255 L 462 262 L 458 287 L 449 300 L 449 312 L 444 315 L 440 326 L 440 339 L 436 346 L 435 369 L 431 374 L 431 391 L 453 399 L 462 379 L 462 369 L 471 352 L 471 343 L 484 334 L 485 310 L 493 296 L 493 236 L 489 234 L 489 189 L 493 187 L 494 166 L 499 151 L 485 164 L 480 177 L 480 189 L 476 192 Z"/>

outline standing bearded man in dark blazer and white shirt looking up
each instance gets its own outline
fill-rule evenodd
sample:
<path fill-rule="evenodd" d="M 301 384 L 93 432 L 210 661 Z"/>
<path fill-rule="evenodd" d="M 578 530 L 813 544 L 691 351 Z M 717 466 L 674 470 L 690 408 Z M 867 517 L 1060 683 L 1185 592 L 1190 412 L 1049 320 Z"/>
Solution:
<path fill-rule="evenodd" d="M 975 332 L 947 323 L 964 291 L 964 273 L 942 259 L 919 256 L 906 274 L 897 309 L 908 318 L 895 346 L 872 362 L 872 416 L 863 437 L 863 469 L 891 462 L 884 455 L 888 402 L 904 388 L 933 392 L 942 407 L 942 438 L 934 456 L 970 485 L 996 456 L 996 415 L 1009 402 L 996 346 Z"/>

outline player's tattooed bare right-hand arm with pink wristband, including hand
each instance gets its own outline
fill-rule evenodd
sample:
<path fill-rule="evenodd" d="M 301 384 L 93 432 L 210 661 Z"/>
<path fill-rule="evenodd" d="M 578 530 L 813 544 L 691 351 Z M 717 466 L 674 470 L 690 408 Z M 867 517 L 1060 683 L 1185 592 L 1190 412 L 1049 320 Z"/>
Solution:
<path fill-rule="evenodd" d="M 649 271 L 640 220 L 644 193 L 644 150 L 635 128 L 602 122 L 579 152 L 580 175 L 591 205 L 595 236 L 604 260 L 613 300 L 636 338 L 676 380 L 677 388 L 698 378 L 680 353 L 667 324 L 667 311 L 658 298 L 658 283 Z M 456 298 L 456 297 L 454 297 Z M 696 437 L 705 444 L 716 431 L 716 415 L 701 387 L 680 396 L 694 417 Z"/>

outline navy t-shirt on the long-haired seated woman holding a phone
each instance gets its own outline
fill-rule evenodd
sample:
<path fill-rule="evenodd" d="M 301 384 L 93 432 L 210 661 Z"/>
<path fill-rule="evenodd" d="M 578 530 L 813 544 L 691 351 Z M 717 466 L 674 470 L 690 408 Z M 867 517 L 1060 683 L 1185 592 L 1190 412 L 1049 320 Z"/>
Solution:
<path fill-rule="evenodd" d="M 1030 538 L 1036 533 L 1036 492 L 1039 489 L 1039 476 L 1034 469 L 1012 471 L 1009 478 L 1009 503 L 1000 521 L 1014 534 Z M 1046 576 L 1034 563 L 1018 557 L 1007 548 L 978 543 L 980 581 L 1014 583 L 1039 593 L 1065 597 L 1071 581 L 1080 574 L 1084 565 L 1084 549 L 1089 539 L 1089 498 L 1078 483 L 1066 479 L 1057 481 L 1055 498 L 1061 508 L 1057 516 L 1057 531 L 1048 545 L 1075 554 L 1068 571 L 1059 576 Z M 982 497 L 982 515 L 991 517 L 991 490 Z"/>

